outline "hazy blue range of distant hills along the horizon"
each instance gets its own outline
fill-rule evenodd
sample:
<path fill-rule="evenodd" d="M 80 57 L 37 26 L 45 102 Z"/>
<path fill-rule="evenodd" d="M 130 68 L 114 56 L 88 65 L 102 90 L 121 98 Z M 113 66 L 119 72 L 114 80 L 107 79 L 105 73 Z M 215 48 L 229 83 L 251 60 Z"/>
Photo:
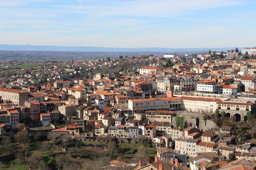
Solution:
<path fill-rule="evenodd" d="M 6 45 L 0 44 L 0 50 L 8 51 L 62 51 L 62 52 L 164 52 L 164 53 L 198 53 L 212 51 L 225 51 L 236 47 L 222 48 L 108 48 L 108 47 L 70 47 L 50 45 Z M 239 47 L 238 47 L 239 48 Z M 240 48 L 239 48 L 240 49 Z"/>

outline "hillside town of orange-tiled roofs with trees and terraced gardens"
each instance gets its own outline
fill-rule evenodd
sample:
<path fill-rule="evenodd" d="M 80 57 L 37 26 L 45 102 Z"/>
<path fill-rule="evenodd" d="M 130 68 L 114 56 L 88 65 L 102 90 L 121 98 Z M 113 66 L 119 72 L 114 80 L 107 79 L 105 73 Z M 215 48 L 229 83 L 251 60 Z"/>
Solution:
<path fill-rule="evenodd" d="M 1 168 L 256 169 L 254 47 L 9 60 L 0 81 Z"/>

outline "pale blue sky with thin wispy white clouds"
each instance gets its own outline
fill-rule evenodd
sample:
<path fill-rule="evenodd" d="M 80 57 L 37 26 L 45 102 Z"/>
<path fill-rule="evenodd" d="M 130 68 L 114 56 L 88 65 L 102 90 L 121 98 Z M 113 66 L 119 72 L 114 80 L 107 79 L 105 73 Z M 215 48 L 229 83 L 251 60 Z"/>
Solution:
<path fill-rule="evenodd" d="M 0 44 L 256 46 L 256 0 L 0 0 Z"/>

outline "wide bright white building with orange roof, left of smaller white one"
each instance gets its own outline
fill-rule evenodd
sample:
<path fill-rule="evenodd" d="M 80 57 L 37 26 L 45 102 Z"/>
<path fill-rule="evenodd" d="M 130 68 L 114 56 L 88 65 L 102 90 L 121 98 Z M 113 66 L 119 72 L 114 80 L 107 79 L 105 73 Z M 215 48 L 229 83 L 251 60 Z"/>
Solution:
<path fill-rule="evenodd" d="M 218 87 L 214 80 L 200 80 L 196 83 L 196 91 L 200 93 L 217 94 Z"/>

